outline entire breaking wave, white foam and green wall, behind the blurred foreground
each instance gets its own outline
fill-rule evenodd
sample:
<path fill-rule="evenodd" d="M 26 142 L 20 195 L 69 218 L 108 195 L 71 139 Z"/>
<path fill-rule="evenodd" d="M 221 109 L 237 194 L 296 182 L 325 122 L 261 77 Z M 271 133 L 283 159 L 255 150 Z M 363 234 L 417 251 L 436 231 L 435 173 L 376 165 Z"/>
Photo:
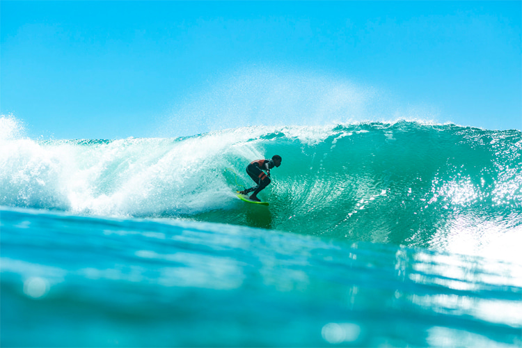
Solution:
<path fill-rule="evenodd" d="M 179 139 L 34 141 L 4 136 L 0 205 L 171 217 L 304 235 L 450 248 L 522 224 L 522 133 L 420 122 L 246 127 Z M 281 155 L 260 197 L 253 159 Z M 447 245 L 446 245 L 447 244 Z M 473 248 L 473 246 L 468 246 Z"/>

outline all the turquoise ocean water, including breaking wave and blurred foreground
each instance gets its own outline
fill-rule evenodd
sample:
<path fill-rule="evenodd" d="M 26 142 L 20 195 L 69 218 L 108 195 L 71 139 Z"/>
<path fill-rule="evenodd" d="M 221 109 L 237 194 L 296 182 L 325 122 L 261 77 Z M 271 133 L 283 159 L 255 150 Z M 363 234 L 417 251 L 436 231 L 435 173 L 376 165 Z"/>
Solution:
<path fill-rule="evenodd" d="M 519 131 L 6 129 L 2 347 L 522 347 Z"/>

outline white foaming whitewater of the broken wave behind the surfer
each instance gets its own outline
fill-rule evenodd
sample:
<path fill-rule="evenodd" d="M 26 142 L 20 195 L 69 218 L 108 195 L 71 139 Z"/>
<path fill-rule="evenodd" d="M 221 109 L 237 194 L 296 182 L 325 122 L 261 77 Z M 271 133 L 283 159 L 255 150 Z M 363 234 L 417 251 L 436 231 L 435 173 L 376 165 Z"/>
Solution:
<path fill-rule="evenodd" d="M 255 139 L 273 131 L 253 127 L 188 139 L 110 142 L 3 141 L 0 204 L 102 216 L 214 209 L 232 200 L 223 169 L 243 173 L 252 158 L 264 156 Z"/>

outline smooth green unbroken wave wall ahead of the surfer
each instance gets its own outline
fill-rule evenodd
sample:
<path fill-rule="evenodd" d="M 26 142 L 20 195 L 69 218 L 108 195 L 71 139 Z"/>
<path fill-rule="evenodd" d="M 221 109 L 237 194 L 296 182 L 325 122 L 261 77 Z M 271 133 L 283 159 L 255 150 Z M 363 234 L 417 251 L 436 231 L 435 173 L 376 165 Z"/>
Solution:
<path fill-rule="evenodd" d="M 262 227 L 428 246 L 437 233 L 521 224 L 518 131 L 374 123 L 335 127 L 318 141 L 283 131 L 261 142 L 284 160 L 272 171 L 265 197 L 275 207 Z M 246 223 L 237 215 L 219 212 L 214 221 Z"/>

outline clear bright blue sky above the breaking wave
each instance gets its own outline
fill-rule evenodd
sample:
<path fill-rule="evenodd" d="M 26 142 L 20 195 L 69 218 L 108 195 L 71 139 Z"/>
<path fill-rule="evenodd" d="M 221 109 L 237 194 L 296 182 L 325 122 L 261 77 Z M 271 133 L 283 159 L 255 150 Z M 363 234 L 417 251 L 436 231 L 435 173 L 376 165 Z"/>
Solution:
<path fill-rule="evenodd" d="M 521 1 L 1 1 L 31 137 L 397 117 L 522 129 Z"/>

